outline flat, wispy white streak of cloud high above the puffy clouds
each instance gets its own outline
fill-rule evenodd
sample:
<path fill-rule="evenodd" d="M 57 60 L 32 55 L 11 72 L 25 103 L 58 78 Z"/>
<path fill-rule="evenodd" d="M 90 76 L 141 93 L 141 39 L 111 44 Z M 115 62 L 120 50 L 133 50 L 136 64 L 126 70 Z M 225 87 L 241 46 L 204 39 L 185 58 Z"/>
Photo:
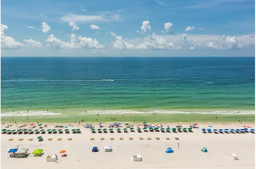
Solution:
<path fill-rule="evenodd" d="M 63 17 L 60 17 L 62 21 L 66 22 L 105 22 L 112 20 L 119 20 L 119 15 L 110 13 L 110 12 L 101 12 L 98 15 L 76 15 L 73 13 L 69 13 Z"/>

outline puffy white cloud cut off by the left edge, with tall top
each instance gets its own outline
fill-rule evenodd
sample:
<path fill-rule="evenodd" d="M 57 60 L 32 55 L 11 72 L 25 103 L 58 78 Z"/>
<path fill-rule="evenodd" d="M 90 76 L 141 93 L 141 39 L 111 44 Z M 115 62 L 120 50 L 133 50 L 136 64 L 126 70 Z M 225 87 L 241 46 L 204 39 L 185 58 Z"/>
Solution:
<path fill-rule="evenodd" d="M 24 46 L 24 44 L 17 42 L 11 36 L 5 36 L 5 29 L 7 30 L 8 26 L 1 24 L 1 48 L 16 49 Z"/>

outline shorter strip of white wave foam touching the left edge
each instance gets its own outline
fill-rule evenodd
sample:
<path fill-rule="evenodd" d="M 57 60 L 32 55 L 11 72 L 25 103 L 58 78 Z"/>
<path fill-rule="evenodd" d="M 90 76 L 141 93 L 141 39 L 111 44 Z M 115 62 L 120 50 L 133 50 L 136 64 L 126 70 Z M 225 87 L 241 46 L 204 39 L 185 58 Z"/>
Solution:
<path fill-rule="evenodd" d="M 19 111 L 18 112 L 7 112 L 1 113 L 1 116 L 36 116 L 36 115 L 57 115 L 61 113 L 45 112 L 45 111 Z"/>

